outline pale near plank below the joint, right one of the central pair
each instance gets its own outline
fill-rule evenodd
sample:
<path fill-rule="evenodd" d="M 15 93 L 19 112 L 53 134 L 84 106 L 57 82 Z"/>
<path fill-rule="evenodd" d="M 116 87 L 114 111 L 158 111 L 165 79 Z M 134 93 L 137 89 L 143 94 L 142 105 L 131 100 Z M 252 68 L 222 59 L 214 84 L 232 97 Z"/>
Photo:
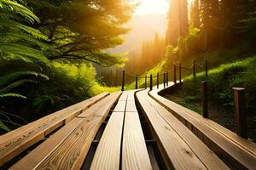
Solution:
<path fill-rule="evenodd" d="M 122 169 L 152 169 L 137 112 L 125 113 Z"/>

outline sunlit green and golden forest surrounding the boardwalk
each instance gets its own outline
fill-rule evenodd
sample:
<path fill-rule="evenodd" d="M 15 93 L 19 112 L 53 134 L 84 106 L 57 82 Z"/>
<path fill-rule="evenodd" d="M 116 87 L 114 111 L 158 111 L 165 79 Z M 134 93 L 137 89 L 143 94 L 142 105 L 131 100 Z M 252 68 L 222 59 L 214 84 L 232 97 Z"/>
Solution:
<path fill-rule="evenodd" d="M 193 59 L 208 59 L 216 69 L 210 72 L 218 88 L 218 93 L 212 88 L 213 103 L 221 99 L 222 109 L 230 109 L 230 87 L 243 86 L 250 94 L 248 111 L 255 111 L 256 1 L 168 3 L 166 36 L 155 32 L 154 39 L 143 42 L 128 58 L 127 51 L 112 54 L 108 49 L 125 42 L 122 36 L 131 31 L 125 23 L 136 11 L 134 1 L 0 0 L 0 133 L 104 91 L 119 91 L 123 70 L 156 74 L 172 70 L 174 64 L 189 66 Z M 110 69 L 98 76 L 98 65 Z M 189 85 L 176 94 L 177 103 L 199 100 L 199 77 L 197 82 L 184 79 Z M 127 78 L 125 88 L 134 84 Z M 195 105 L 189 107 L 196 110 Z"/>

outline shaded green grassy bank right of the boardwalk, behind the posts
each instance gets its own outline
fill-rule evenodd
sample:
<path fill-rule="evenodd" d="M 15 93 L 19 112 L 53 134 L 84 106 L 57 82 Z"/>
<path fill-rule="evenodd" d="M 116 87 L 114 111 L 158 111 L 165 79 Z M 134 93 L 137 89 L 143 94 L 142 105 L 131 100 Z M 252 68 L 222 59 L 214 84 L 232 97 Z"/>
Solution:
<path fill-rule="evenodd" d="M 256 56 L 220 65 L 208 72 L 200 72 L 193 77 L 185 77 L 183 86 L 167 99 L 201 114 L 201 81 L 208 83 L 210 116 L 224 127 L 236 131 L 234 87 L 246 88 L 246 108 L 248 135 L 256 139 Z"/>

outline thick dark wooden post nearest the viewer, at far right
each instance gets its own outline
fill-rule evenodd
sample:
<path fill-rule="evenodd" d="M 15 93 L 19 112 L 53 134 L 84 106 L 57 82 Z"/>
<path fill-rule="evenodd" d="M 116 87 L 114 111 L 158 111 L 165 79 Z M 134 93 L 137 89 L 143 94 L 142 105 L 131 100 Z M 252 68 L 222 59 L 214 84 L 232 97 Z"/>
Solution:
<path fill-rule="evenodd" d="M 245 88 L 233 88 L 233 90 L 235 96 L 237 134 L 247 139 Z"/>

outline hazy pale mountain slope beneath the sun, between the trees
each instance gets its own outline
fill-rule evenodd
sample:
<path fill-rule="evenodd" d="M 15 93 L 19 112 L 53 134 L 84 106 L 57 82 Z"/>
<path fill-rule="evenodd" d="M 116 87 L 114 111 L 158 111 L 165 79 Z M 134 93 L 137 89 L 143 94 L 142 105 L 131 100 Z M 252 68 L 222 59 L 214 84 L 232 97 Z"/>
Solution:
<path fill-rule="evenodd" d="M 127 33 L 125 43 L 110 50 L 111 53 L 119 54 L 125 51 L 132 53 L 140 51 L 144 41 L 154 39 L 155 32 L 160 37 L 165 37 L 167 20 L 164 14 L 135 15 L 127 24 L 132 30 Z"/>

